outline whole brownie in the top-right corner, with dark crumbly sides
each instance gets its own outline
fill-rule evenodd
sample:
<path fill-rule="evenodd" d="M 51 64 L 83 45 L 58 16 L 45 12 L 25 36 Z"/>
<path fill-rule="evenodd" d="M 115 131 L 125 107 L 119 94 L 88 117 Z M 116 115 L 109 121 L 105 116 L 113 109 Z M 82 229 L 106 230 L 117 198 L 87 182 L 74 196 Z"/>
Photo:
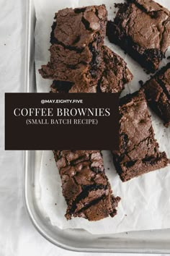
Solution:
<path fill-rule="evenodd" d="M 169 10 L 152 0 L 128 0 L 117 6 L 115 20 L 107 23 L 109 41 L 155 72 L 170 46 Z"/>

